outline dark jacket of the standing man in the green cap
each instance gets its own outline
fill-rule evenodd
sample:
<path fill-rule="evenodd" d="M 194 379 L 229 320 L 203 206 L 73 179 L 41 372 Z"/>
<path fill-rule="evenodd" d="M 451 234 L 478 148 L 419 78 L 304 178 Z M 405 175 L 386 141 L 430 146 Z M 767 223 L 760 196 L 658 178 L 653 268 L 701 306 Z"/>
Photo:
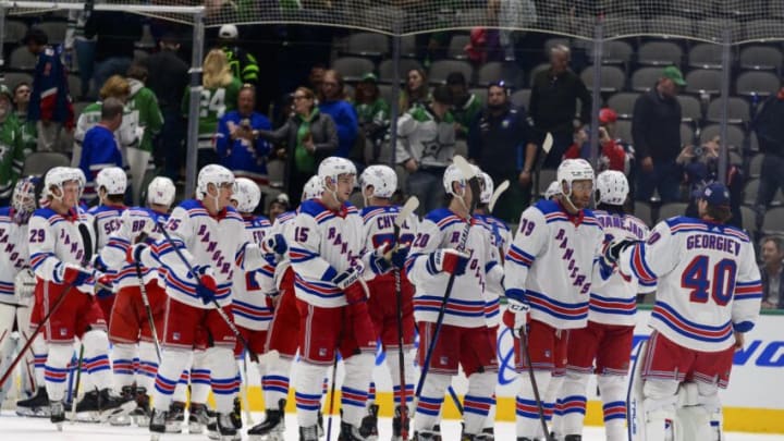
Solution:
<path fill-rule="evenodd" d="M 664 98 L 656 87 L 635 101 L 632 139 L 639 160 L 675 162 L 681 154 L 681 102 Z"/>

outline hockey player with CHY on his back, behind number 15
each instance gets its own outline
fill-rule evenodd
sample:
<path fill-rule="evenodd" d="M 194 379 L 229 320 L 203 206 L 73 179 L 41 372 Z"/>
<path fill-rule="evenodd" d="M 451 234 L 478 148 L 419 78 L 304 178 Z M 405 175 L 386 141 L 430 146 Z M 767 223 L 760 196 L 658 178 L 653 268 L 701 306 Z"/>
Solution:
<path fill-rule="evenodd" d="M 401 208 L 392 204 L 392 195 L 397 188 L 397 175 L 392 168 L 387 166 L 370 166 L 359 176 L 359 188 L 363 192 L 365 208 L 362 210 L 364 223 L 365 248 L 373 249 L 387 244 L 389 249 L 395 246 L 401 248 L 411 247 L 416 234 L 418 220 L 415 216 L 409 216 L 402 225 L 400 236 L 395 237 L 394 222 Z M 405 264 L 404 253 L 395 253 L 396 258 L 402 258 L 394 265 L 402 268 Z M 408 430 L 407 416 L 412 415 L 408 408 L 414 401 L 414 382 L 416 375 L 414 369 L 414 309 L 413 297 L 414 286 L 408 281 L 405 271 L 401 271 L 401 293 L 402 296 L 402 322 L 397 321 L 397 298 L 399 293 L 395 292 L 395 278 L 392 273 L 377 275 L 368 281 L 368 290 L 370 291 L 370 299 L 368 301 L 368 310 L 372 319 L 376 334 L 381 340 L 381 345 L 387 353 L 387 365 L 392 375 L 393 402 L 395 405 L 394 417 L 392 418 L 392 437 L 393 440 L 401 439 L 402 425 L 405 424 Z M 402 327 L 403 347 L 400 347 L 399 328 Z M 404 363 L 409 366 L 405 369 L 405 383 L 401 384 L 401 366 L 400 354 L 403 352 Z M 405 393 L 401 392 L 401 388 L 405 388 Z M 375 390 L 375 384 L 371 384 Z M 401 408 L 401 399 L 405 395 L 406 408 Z M 369 425 L 378 415 L 379 406 L 371 402 L 368 406 L 371 414 L 366 419 Z M 405 411 L 405 418 L 403 415 Z"/>

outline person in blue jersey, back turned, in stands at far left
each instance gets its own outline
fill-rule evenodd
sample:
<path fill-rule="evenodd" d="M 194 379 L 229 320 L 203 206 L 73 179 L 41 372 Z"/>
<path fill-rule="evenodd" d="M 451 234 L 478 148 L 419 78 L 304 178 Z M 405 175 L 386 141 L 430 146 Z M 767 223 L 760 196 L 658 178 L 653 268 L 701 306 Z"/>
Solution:
<path fill-rule="evenodd" d="M 98 195 L 95 179 L 107 167 L 123 167 L 122 151 L 114 139 L 114 132 L 123 120 L 124 103 L 117 98 L 107 98 L 101 106 L 100 121 L 85 134 L 79 157 L 79 169 L 87 177 L 83 199 L 89 206 Z"/>

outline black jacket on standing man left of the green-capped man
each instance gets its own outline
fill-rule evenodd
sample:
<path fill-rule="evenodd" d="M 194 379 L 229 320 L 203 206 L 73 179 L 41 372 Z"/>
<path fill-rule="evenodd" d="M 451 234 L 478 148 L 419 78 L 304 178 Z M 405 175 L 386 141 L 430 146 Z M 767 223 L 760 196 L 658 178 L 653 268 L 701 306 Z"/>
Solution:
<path fill-rule="evenodd" d="M 590 123 L 591 96 L 576 73 L 566 70 L 553 76 L 549 69 L 537 73 L 528 109 L 534 127 L 539 132 L 574 132 L 577 99 L 581 103 L 580 122 Z"/>

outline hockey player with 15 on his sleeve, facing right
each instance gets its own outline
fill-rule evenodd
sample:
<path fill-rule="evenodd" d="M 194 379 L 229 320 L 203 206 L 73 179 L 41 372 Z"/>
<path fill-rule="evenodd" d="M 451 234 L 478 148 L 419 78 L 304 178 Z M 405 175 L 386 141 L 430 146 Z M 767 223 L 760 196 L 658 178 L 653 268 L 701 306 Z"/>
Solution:
<path fill-rule="evenodd" d="M 375 440 L 377 434 L 363 425 L 377 343 L 362 277 L 363 267 L 376 271 L 383 265 L 385 247 L 363 256 L 362 218 L 348 204 L 354 164 L 330 157 L 319 164 L 318 175 L 324 191 L 321 198 L 299 206 L 289 248 L 301 314 L 295 376 L 299 439 L 318 440 L 322 381 L 340 352 L 345 366 L 340 437 Z"/>

